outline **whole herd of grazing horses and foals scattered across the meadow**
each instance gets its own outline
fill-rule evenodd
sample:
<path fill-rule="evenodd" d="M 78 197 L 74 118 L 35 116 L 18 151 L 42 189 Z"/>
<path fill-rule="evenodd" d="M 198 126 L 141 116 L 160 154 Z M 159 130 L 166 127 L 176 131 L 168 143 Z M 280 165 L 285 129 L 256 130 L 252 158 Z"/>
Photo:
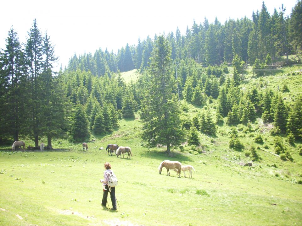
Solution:
<path fill-rule="evenodd" d="M 23 150 L 25 151 L 25 142 L 24 141 L 15 141 L 12 145 L 12 150 L 16 150 L 16 148 L 21 148 L 23 147 Z M 83 147 L 83 151 L 86 149 L 86 151 L 88 151 L 88 145 L 87 143 L 82 143 L 82 147 Z M 40 144 L 40 150 L 43 151 L 44 150 L 44 143 Z M 129 159 L 131 159 L 132 156 L 132 152 L 131 152 L 131 148 L 130 147 L 123 147 L 123 146 L 118 146 L 117 144 L 108 144 L 106 151 L 108 151 L 108 155 L 109 155 L 109 151 L 110 154 L 112 156 L 112 153 L 115 151 L 116 157 L 118 158 L 120 156 L 120 158 L 122 157 L 121 154 L 123 154 L 123 158 L 124 158 L 124 153 L 128 153 L 127 159 L 129 157 Z M 130 157 L 131 156 L 131 157 Z M 195 171 L 194 167 L 191 165 L 182 165 L 180 162 L 178 161 L 170 161 L 170 160 L 164 160 L 159 164 L 158 170 L 159 170 L 159 174 L 161 174 L 162 172 L 162 168 L 165 167 L 167 169 L 167 175 L 170 176 L 170 171 L 169 170 L 174 170 L 177 172 L 178 177 L 180 177 L 180 173 L 181 171 L 183 171 L 184 176 L 186 176 L 185 171 L 189 171 L 189 177 L 192 178 L 192 170 Z"/>

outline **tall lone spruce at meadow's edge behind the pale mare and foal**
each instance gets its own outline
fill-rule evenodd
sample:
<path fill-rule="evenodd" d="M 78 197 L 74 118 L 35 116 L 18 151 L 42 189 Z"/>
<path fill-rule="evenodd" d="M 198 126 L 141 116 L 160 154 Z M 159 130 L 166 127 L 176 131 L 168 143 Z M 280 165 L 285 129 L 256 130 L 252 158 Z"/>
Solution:
<path fill-rule="evenodd" d="M 182 143 L 183 132 L 180 128 L 179 102 L 172 93 L 176 83 L 171 76 L 171 49 L 162 35 L 157 37 L 148 72 L 151 81 L 141 111 L 142 137 L 148 147 L 163 144 L 166 145 L 166 152 L 170 153 L 171 145 Z"/>

